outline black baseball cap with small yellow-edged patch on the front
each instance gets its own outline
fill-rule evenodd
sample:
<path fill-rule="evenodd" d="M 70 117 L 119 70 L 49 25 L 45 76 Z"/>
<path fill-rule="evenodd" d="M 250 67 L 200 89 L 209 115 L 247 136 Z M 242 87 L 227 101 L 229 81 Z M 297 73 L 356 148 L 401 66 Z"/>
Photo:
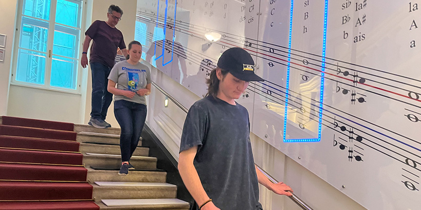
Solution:
<path fill-rule="evenodd" d="M 242 48 L 225 50 L 218 60 L 218 67 L 244 81 L 264 81 L 254 73 L 253 58 Z"/>

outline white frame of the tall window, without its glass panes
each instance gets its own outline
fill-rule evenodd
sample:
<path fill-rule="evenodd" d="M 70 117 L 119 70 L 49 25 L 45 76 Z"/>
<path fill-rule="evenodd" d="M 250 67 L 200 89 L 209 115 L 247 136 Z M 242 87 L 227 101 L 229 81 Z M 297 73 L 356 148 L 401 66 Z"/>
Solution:
<path fill-rule="evenodd" d="M 71 93 L 71 94 L 78 94 L 78 95 L 82 95 L 81 93 L 81 88 L 82 88 L 82 77 L 83 77 L 83 69 L 80 66 L 80 59 L 81 59 L 81 53 L 82 53 L 82 41 L 85 38 L 85 33 L 83 31 L 83 29 L 85 28 L 85 20 L 86 20 L 86 0 L 66 0 L 69 2 L 80 2 L 80 9 L 79 9 L 79 16 L 80 16 L 80 28 L 75 28 L 75 27 L 71 27 L 71 26 L 66 26 L 66 25 L 62 25 L 59 23 L 55 23 L 55 12 L 56 12 L 56 6 L 57 6 L 57 1 L 56 0 L 51 0 L 50 3 L 50 18 L 49 20 L 44 20 L 44 19 L 39 19 L 36 17 L 30 17 L 30 16 L 26 16 L 23 14 L 23 6 L 24 6 L 24 0 L 18 0 L 18 5 L 17 5 L 17 12 L 16 12 L 16 26 L 15 26 L 15 40 L 14 40 L 14 47 L 13 47 L 13 60 L 12 60 L 12 79 L 10 81 L 11 85 L 15 85 L 15 86 L 23 86 L 23 87 L 29 87 L 29 88 L 36 88 L 36 89 L 43 89 L 43 90 L 50 90 L 50 91 L 57 91 L 57 92 L 64 92 L 64 93 Z M 44 84 L 37 84 L 37 83 L 31 83 L 31 82 L 25 82 L 25 81 L 18 81 L 16 80 L 16 73 L 17 73 L 17 62 L 18 62 L 18 53 L 19 53 L 19 44 L 20 44 L 20 39 L 21 39 L 21 33 L 22 33 L 22 20 L 23 17 L 29 17 L 29 18 L 33 18 L 33 19 L 39 19 L 42 20 L 44 22 L 49 23 L 49 28 L 48 28 L 48 35 L 47 35 L 47 52 L 40 52 L 43 54 L 46 54 L 46 60 L 45 60 L 45 73 L 44 73 Z M 55 55 L 53 54 L 53 41 L 54 41 L 54 31 L 55 31 L 55 26 L 58 25 L 60 28 L 65 29 L 65 28 L 71 28 L 71 29 L 76 29 L 76 30 L 80 30 L 80 34 L 79 34 L 79 40 L 76 40 L 75 43 L 75 47 L 78 48 L 76 49 L 76 57 L 75 58 L 71 58 L 71 57 L 66 57 L 63 55 Z M 60 32 L 65 33 L 66 30 L 59 30 Z M 69 34 L 74 34 L 74 33 L 69 33 Z M 51 38 L 50 38 L 51 37 Z M 34 50 L 31 50 L 34 51 Z M 37 51 L 34 51 L 37 52 Z M 51 86 L 51 65 L 52 65 L 52 60 L 53 60 L 53 56 L 60 56 L 60 57 L 64 57 L 64 58 L 69 58 L 69 59 L 75 59 L 75 67 L 76 67 L 76 89 L 68 89 L 68 88 L 61 88 L 61 87 L 56 87 L 56 86 Z"/>

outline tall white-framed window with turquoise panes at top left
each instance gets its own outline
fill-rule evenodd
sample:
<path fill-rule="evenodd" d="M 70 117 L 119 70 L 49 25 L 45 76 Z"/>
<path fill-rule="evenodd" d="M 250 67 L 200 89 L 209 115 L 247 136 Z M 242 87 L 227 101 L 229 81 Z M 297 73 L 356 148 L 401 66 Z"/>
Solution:
<path fill-rule="evenodd" d="M 82 0 L 22 0 L 14 82 L 78 89 Z"/>

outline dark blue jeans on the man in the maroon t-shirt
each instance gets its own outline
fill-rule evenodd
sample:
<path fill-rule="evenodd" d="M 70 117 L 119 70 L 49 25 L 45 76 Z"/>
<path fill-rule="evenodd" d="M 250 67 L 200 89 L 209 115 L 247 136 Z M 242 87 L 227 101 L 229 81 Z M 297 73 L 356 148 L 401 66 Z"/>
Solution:
<path fill-rule="evenodd" d="M 90 66 L 92 72 L 91 117 L 105 120 L 112 101 L 112 94 L 107 91 L 108 75 L 111 69 L 100 62 L 91 62 Z"/>

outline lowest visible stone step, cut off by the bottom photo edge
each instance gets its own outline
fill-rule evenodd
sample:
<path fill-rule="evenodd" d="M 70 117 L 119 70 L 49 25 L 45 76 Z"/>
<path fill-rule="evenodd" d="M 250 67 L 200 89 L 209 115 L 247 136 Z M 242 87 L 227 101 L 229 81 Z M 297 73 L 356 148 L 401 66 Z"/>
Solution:
<path fill-rule="evenodd" d="M 98 202 L 97 205 L 100 209 L 107 210 L 119 210 L 119 209 L 177 209 L 177 210 L 188 210 L 189 203 L 175 199 L 175 198 L 164 198 L 164 199 L 103 199 L 102 202 Z"/>

